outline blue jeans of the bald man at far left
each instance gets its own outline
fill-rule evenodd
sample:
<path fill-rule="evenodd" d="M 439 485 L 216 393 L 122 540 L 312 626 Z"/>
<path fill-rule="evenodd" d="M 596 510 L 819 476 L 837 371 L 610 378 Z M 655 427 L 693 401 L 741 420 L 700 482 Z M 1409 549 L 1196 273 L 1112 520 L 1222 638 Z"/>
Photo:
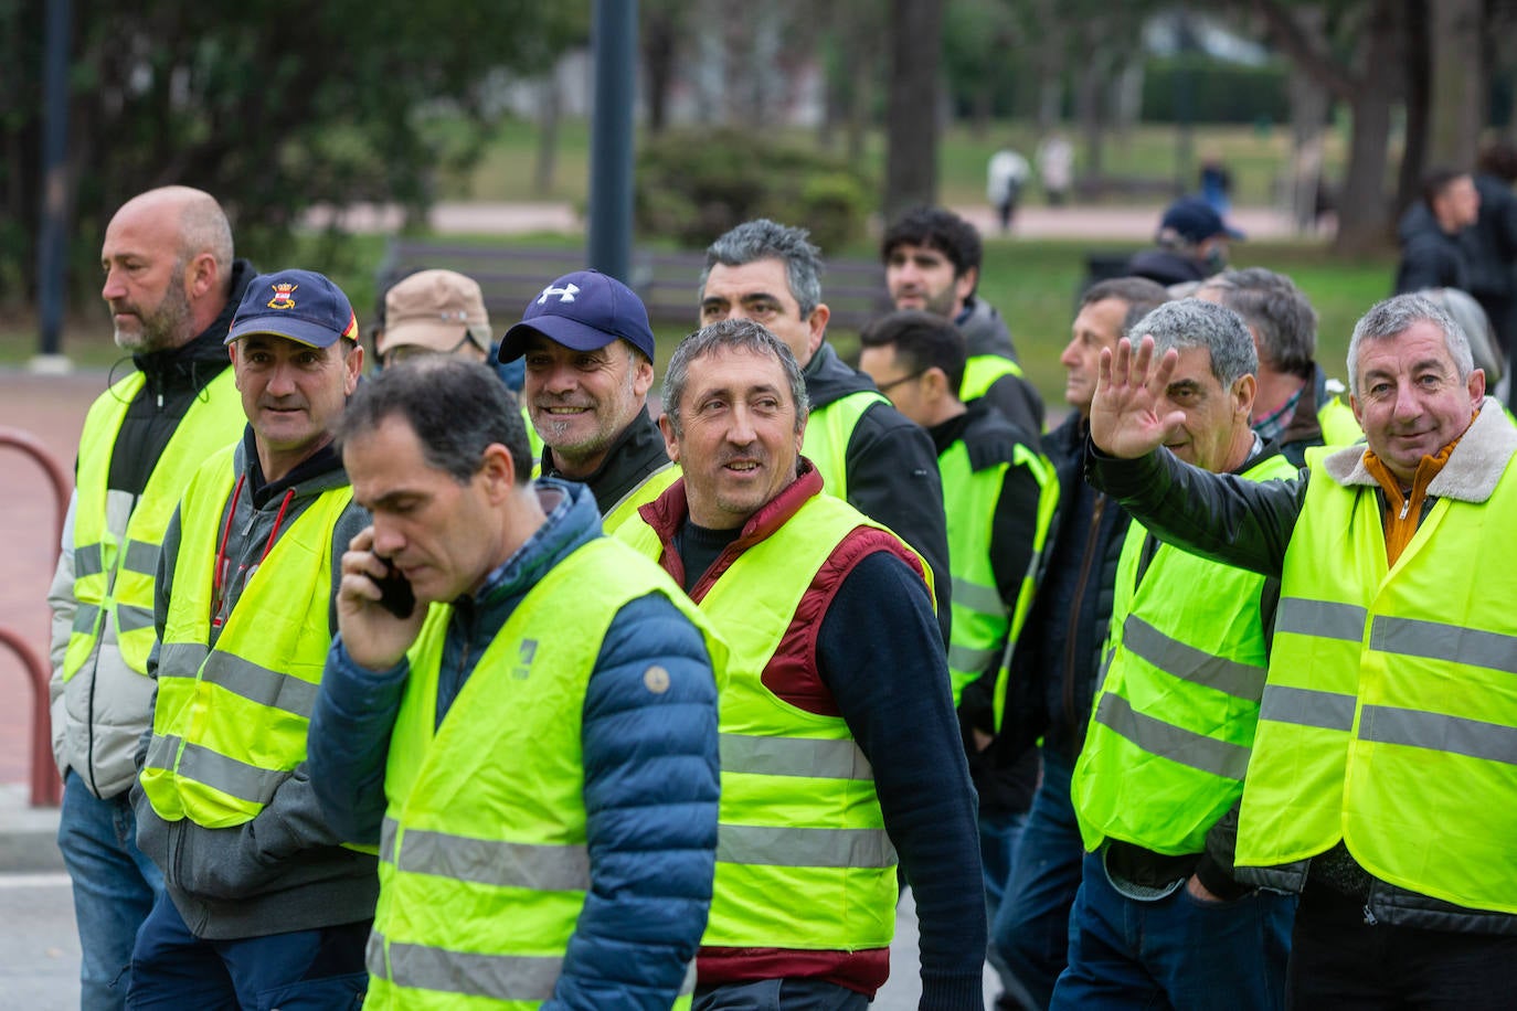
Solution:
<path fill-rule="evenodd" d="M 130 793 L 102 800 L 73 768 L 64 778 L 58 849 L 74 881 L 79 929 L 79 1006 L 126 1006 L 127 969 L 137 929 L 164 891 L 164 876 L 137 849 Z"/>

